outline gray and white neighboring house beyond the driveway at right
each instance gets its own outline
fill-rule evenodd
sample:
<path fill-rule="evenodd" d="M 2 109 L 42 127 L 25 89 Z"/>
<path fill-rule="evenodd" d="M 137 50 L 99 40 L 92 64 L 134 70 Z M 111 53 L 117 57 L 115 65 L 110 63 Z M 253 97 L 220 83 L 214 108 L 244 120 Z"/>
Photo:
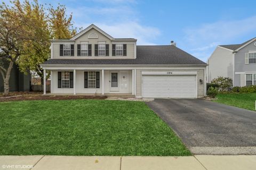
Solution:
<path fill-rule="evenodd" d="M 256 38 L 242 44 L 220 45 L 208 60 L 207 81 L 229 77 L 235 86 L 256 85 Z"/>

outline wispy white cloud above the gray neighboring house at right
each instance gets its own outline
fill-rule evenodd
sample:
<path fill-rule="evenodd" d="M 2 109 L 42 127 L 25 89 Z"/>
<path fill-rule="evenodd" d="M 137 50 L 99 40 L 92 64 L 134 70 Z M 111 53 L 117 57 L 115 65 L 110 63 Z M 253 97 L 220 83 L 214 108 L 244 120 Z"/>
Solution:
<path fill-rule="evenodd" d="M 184 29 L 183 46 L 187 45 L 188 52 L 206 61 L 218 45 L 243 43 L 236 42 L 236 39 L 246 35 L 252 35 L 253 38 L 255 30 L 256 16 L 242 20 L 205 23 L 196 28 Z"/>

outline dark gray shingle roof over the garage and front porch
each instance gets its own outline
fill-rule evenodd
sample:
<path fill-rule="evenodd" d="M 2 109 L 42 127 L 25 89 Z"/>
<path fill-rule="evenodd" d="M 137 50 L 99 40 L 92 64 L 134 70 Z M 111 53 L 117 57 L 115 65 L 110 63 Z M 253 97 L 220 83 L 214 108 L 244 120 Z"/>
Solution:
<path fill-rule="evenodd" d="M 183 50 L 171 46 L 137 46 L 136 59 L 50 59 L 43 64 L 180 64 L 207 65 Z"/>

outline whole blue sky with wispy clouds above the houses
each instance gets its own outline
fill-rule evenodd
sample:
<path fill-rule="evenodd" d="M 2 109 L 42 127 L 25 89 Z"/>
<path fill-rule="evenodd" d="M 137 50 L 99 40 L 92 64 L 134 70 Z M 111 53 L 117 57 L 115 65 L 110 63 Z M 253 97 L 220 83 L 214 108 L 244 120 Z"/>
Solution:
<path fill-rule="evenodd" d="M 4 0 L 7 1 L 7 0 Z M 75 27 L 95 24 L 114 38 L 137 45 L 170 45 L 207 61 L 218 45 L 256 37 L 256 1 L 38 0 L 66 5 Z"/>

